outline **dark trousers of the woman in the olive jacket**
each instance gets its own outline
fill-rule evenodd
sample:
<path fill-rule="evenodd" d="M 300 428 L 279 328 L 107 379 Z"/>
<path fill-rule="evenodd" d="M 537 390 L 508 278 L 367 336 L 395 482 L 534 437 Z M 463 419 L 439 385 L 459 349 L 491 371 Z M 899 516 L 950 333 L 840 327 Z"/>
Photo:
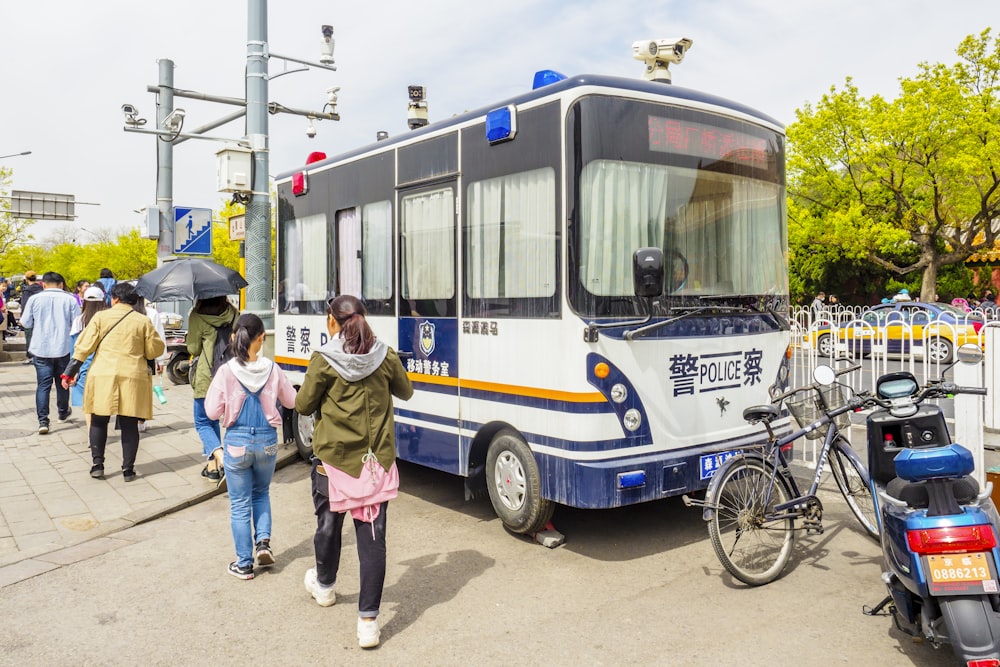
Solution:
<path fill-rule="evenodd" d="M 337 581 L 337 571 L 340 569 L 341 531 L 345 513 L 330 511 L 329 480 L 316 472 L 319 465 L 320 462 L 313 459 L 312 491 L 313 505 L 316 507 L 313 548 L 316 551 L 316 579 L 323 586 L 332 586 Z M 361 564 L 358 614 L 368 618 L 378 616 L 379 606 L 382 604 L 382 587 L 385 585 L 385 514 L 388 507 L 388 502 L 382 503 L 378 518 L 372 523 L 354 520 L 354 536 Z"/>

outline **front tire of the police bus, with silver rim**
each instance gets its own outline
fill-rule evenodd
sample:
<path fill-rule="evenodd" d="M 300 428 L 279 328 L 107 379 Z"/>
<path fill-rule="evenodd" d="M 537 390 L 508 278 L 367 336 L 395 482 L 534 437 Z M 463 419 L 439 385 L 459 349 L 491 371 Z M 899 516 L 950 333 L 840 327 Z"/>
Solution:
<path fill-rule="evenodd" d="M 513 430 L 493 436 L 486 453 L 486 481 L 493 509 L 510 532 L 537 533 L 552 518 L 555 504 L 542 498 L 538 463 L 528 443 Z"/>

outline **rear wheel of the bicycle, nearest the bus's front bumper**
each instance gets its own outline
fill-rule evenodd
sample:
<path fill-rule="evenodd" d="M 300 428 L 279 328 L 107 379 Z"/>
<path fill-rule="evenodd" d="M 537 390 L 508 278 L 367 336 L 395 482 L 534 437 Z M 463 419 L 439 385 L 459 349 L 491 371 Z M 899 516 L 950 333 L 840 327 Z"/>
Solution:
<path fill-rule="evenodd" d="M 792 554 L 793 518 L 768 519 L 774 507 L 787 502 L 788 483 L 774 466 L 758 458 L 742 458 L 713 480 L 707 503 L 715 511 L 708 523 L 715 555 L 726 570 L 751 586 L 781 575 Z"/>

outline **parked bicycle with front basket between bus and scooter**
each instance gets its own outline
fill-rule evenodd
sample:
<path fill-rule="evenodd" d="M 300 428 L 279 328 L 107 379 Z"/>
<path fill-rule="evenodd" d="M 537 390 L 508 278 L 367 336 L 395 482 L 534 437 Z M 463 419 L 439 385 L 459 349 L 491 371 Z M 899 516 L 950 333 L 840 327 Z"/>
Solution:
<path fill-rule="evenodd" d="M 813 384 L 779 394 L 772 404 L 744 410 L 743 418 L 748 422 L 764 424 L 767 441 L 744 448 L 726 461 L 712 477 L 704 501 L 685 497 L 689 506 L 704 508 L 716 556 L 743 583 L 760 586 L 781 575 L 792 553 L 796 520 L 802 519 L 810 534 L 823 533 L 823 505 L 816 492 L 828 458 L 851 512 L 869 537 L 879 539 L 878 506 L 868 471 L 840 432 L 849 423 L 847 413 L 865 407 L 868 399 L 853 394 L 848 398 L 836 378 L 860 367 L 835 372 L 820 366 Z M 803 426 L 777 438 L 771 422 L 780 414 L 782 401 L 795 398 L 798 400 L 789 400 L 787 407 Z M 799 490 L 782 451 L 803 437 L 824 438 L 806 493 Z"/>

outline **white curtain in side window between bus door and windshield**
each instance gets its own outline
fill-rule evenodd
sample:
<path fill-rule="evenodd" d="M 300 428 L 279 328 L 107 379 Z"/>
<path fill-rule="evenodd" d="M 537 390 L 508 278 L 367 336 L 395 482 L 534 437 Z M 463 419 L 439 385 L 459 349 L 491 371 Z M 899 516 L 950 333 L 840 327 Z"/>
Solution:
<path fill-rule="evenodd" d="M 551 167 L 468 188 L 465 289 L 476 298 L 552 296 L 556 179 Z"/>

